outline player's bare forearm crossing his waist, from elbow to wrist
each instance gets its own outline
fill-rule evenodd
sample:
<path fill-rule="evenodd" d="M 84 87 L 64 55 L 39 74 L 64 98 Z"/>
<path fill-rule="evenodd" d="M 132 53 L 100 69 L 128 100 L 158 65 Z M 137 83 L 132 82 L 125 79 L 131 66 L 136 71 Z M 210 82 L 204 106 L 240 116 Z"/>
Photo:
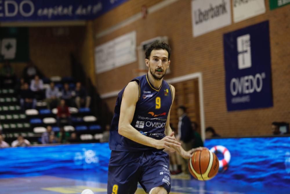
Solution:
<path fill-rule="evenodd" d="M 146 146 L 150 146 L 150 147 L 156 146 L 157 140 L 140 134 L 140 132 L 137 131 L 134 127 L 132 127 L 132 125 L 126 125 L 126 126 L 119 125 L 118 132 L 120 135 L 122 135 L 122 136 L 124 136 L 132 141 L 140 143 L 142 145 L 146 145 Z"/>

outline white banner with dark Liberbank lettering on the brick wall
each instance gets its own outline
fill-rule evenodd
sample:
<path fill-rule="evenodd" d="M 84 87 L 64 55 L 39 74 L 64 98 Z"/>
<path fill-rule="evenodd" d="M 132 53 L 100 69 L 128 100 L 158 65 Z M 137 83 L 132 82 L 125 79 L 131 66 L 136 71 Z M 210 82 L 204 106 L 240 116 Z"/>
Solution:
<path fill-rule="evenodd" d="M 193 36 L 228 26 L 231 21 L 230 0 L 192 0 Z"/>

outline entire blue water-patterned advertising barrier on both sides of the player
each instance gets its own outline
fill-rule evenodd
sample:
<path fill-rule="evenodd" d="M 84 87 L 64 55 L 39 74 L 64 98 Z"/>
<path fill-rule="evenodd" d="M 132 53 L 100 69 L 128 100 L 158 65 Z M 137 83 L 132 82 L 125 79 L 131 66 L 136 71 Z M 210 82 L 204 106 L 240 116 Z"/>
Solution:
<path fill-rule="evenodd" d="M 218 145 L 228 149 L 231 158 L 213 179 L 205 181 L 206 189 L 227 187 L 230 183 L 235 190 L 237 186 L 248 188 L 249 193 L 255 193 L 255 188 L 263 194 L 273 193 L 273 189 L 280 193 L 290 191 L 290 137 L 205 141 L 209 149 Z M 221 153 L 217 156 L 219 160 L 224 157 Z M 103 176 L 108 172 L 109 158 L 108 143 L 4 148 L 0 149 L 0 178 Z"/>

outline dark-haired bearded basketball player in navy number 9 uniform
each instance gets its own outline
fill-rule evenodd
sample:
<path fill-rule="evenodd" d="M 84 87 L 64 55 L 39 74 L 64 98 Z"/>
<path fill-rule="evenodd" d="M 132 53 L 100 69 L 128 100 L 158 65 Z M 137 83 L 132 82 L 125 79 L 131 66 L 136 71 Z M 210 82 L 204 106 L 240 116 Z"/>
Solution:
<path fill-rule="evenodd" d="M 138 182 L 146 193 L 169 193 L 169 157 L 163 149 L 185 159 L 196 150 L 184 151 L 169 126 L 175 88 L 163 76 L 170 64 L 170 47 L 156 41 L 145 55 L 148 73 L 118 94 L 109 138 L 108 194 L 134 194 Z"/>

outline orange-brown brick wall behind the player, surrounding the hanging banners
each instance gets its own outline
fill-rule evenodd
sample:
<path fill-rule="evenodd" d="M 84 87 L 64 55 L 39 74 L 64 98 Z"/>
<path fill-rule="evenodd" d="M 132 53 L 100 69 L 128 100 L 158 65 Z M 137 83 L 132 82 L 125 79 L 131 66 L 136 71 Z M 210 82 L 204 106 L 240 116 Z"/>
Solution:
<path fill-rule="evenodd" d="M 95 32 L 101 32 L 140 12 L 141 4 L 133 6 L 133 2 L 136 1 L 130 0 L 95 20 Z M 142 2 L 153 5 L 160 1 Z M 265 4 L 265 14 L 193 38 L 191 1 L 179 0 L 148 15 L 146 19 L 139 19 L 97 38 L 95 46 L 134 30 L 137 32 L 137 45 L 156 36 L 168 36 L 173 53 L 171 74 L 165 79 L 202 72 L 206 126 L 214 127 L 222 136 L 269 135 L 272 121 L 290 122 L 290 6 L 270 11 L 269 1 L 265 1 Z M 265 20 L 270 23 L 274 105 L 271 108 L 227 112 L 222 35 Z M 136 61 L 97 74 L 96 85 L 99 92 L 102 94 L 123 88 L 135 76 L 132 70 L 137 68 Z M 114 107 L 115 100 L 108 99 L 107 102 L 111 108 Z"/>

